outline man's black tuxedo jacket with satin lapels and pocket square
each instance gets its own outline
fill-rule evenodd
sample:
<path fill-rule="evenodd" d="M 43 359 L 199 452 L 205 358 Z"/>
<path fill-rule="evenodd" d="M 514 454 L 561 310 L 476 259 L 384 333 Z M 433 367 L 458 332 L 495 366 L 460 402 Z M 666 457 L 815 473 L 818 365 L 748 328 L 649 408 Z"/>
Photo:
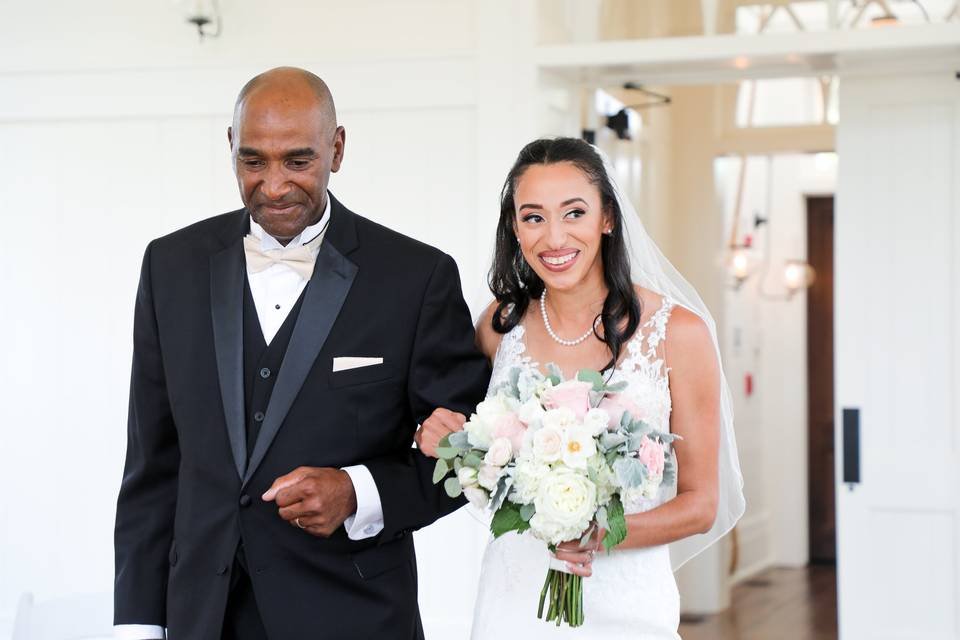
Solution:
<path fill-rule="evenodd" d="M 332 196 L 331 196 L 332 198 Z M 422 637 L 411 532 L 456 509 L 411 449 L 434 408 L 469 415 L 488 365 L 454 261 L 337 202 L 253 451 L 244 423 L 247 214 L 147 247 L 134 316 L 115 623 L 220 638 L 242 541 L 272 640 Z M 338 356 L 383 364 L 333 372 Z M 384 529 L 352 541 L 286 524 L 260 496 L 296 467 L 365 464 Z"/>

